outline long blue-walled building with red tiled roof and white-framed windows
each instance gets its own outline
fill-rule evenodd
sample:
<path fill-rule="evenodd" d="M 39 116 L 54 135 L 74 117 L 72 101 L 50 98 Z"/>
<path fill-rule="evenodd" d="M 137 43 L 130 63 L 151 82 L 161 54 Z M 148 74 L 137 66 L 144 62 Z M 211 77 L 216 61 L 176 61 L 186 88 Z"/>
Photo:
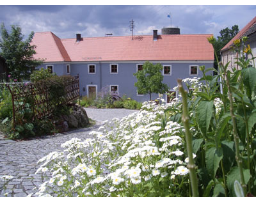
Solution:
<path fill-rule="evenodd" d="M 51 68 L 58 75 L 79 74 L 81 95 L 97 95 L 102 88 L 109 88 L 120 97 L 127 95 L 142 102 L 149 97 L 138 95 L 133 74 L 145 61 L 163 65 L 163 82 L 173 91 L 177 78 L 200 77 L 199 66 L 213 66 L 209 36 L 157 35 L 154 31 L 142 36 L 83 38 L 77 34 L 76 38 L 60 39 L 49 31 L 35 33 L 31 43 L 36 45 L 35 58 L 44 59 L 38 68 Z"/>

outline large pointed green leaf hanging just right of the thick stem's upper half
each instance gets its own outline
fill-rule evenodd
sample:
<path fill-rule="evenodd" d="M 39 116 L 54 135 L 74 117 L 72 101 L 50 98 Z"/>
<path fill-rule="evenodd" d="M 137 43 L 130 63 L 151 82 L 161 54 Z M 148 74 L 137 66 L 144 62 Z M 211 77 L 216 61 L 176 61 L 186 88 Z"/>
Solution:
<path fill-rule="evenodd" d="M 209 128 L 212 118 L 213 104 L 213 100 L 201 101 L 196 109 L 198 126 L 204 136 L 206 136 L 207 134 L 207 130 Z"/>

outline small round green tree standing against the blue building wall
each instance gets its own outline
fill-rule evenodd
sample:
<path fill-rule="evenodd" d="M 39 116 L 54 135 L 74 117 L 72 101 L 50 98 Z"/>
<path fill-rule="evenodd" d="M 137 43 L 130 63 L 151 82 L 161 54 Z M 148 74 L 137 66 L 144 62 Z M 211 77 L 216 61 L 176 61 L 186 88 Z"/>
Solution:
<path fill-rule="evenodd" d="M 166 93 L 169 88 L 162 82 L 162 70 L 163 66 L 160 63 L 153 65 L 153 63 L 146 61 L 143 65 L 143 70 L 134 74 L 137 78 L 134 86 L 137 87 L 138 93 L 149 94 L 150 100 L 152 93 Z"/>

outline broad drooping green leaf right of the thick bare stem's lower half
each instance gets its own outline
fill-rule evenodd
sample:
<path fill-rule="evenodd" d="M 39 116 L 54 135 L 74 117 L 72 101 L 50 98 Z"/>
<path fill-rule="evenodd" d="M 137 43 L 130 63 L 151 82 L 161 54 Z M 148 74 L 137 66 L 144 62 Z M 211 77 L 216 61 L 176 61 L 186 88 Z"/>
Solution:
<path fill-rule="evenodd" d="M 206 169 L 212 179 L 215 178 L 217 169 L 219 168 L 220 160 L 223 158 L 222 148 L 209 148 L 205 152 Z"/>

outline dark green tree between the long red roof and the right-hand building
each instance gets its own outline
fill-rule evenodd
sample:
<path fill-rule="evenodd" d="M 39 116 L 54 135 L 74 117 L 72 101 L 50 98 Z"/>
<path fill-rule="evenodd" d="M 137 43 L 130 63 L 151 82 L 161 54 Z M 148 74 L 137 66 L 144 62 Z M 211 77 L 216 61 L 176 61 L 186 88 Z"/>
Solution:
<path fill-rule="evenodd" d="M 217 36 L 217 40 L 212 44 L 214 49 L 217 52 L 218 61 L 220 61 L 220 50 L 228 43 L 234 36 L 239 33 L 239 28 L 237 25 L 234 25 L 229 29 L 226 27 L 225 29 L 221 29 L 220 36 Z M 218 68 L 217 59 L 214 56 L 214 68 Z"/>

